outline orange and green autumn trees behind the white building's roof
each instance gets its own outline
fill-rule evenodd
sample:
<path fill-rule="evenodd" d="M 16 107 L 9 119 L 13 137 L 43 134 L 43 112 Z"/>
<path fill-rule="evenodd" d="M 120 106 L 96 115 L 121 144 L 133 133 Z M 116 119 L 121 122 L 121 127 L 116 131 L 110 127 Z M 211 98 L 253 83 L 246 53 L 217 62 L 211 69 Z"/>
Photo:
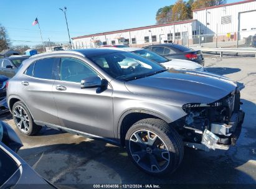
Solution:
<path fill-rule="evenodd" d="M 227 0 L 178 0 L 175 4 L 164 6 L 156 12 L 156 24 L 192 19 L 192 10 L 227 3 Z"/>

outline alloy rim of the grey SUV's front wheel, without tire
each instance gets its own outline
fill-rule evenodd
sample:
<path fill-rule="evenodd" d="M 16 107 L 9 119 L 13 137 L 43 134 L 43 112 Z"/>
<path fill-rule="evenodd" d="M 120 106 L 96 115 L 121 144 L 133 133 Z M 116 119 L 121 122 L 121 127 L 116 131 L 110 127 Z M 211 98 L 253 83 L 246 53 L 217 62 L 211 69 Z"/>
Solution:
<path fill-rule="evenodd" d="M 129 141 L 130 153 L 141 168 L 148 172 L 163 172 L 170 162 L 168 147 L 154 132 L 134 132 Z"/>

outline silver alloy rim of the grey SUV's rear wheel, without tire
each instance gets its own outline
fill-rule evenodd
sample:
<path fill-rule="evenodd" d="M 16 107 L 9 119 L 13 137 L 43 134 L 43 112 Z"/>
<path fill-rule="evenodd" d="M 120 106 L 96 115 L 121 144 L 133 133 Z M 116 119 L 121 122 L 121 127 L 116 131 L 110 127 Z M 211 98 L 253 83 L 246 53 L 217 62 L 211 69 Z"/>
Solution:
<path fill-rule="evenodd" d="M 19 130 L 22 132 L 28 132 L 29 131 L 29 116 L 27 115 L 27 112 L 22 106 L 16 106 L 13 111 L 14 116 L 14 122 L 17 127 L 19 127 Z"/>

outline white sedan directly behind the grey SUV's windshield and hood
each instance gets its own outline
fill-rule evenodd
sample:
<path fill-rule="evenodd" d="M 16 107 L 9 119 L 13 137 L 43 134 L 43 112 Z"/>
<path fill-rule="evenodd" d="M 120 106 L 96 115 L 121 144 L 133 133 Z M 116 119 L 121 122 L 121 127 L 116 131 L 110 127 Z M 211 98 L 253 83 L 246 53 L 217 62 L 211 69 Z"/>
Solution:
<path fill-rule="evenodd" d="M 103 47 L 103 48 L 113 48 L 113 47 Z M 118 48 L 118 50 L 133 52 L 142 57 L 148 58 L 149 60 L 153 60 L 154 62 L 161 63 L 164 67 L 168 69 L 175 70 L 195 70 L 195 71 L 205 71 L 204 67 L 199 63 L 195 63 L 189 60 L 180 60 L 180 59 L 171 59 L 162 57 L 157 53 L 151 52 L 144 48 L 135 48 L 135 47 L 125 47 Z"/>

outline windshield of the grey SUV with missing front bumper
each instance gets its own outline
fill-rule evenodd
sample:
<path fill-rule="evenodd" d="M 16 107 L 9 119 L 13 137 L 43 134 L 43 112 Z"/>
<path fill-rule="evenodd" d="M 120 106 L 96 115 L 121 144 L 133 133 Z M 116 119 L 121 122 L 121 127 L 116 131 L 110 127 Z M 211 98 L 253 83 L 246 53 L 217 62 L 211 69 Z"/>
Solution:
<path fill-rule="evenodd" d="M 166 70 L 162 65 L 130 52 L 107 53 L 88 58 L 121 81 L 136 80 Z"/>

